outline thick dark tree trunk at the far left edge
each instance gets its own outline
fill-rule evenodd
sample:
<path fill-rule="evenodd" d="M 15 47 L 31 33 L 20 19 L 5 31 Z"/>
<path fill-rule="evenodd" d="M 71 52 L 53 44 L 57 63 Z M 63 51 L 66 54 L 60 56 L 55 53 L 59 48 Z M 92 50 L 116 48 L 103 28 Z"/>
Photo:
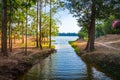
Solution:
<path fill-rule="evenodd" d="M 2 53 L 3 56 L 8 56 L 7 53 L 7 0 L 2 0 Z"/>

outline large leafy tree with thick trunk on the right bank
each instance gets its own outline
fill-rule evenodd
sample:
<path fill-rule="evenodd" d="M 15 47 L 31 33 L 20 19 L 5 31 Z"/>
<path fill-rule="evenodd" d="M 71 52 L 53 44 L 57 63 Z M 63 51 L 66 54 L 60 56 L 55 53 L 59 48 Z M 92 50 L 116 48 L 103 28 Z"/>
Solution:
<path fill-rule="evenodd" d="M 86 51 L 94 50 L 95 41 L 95 24 L 96 19 L 105 19 L 110 16 L 111 11 L 114 9 L 115 3 L 106 0 L 67 0 L 67 8 L 70 10 L 81 23 L 86 23 L 88 26 L 88 41 L 85 48 Z M 112 5 L 111 5 L 112 4 Z M 80 21 L 79 20 L 79 21 Z M 84 22 L 85 21 L 85 22 Z"/>

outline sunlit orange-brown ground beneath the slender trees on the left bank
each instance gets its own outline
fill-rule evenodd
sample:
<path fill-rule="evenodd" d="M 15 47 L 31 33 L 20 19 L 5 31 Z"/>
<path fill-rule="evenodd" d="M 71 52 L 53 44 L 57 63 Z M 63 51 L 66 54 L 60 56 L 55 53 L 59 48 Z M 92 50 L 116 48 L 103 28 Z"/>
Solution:
<path fill-rule="evenodd" d="M 36 53 L 41 53 L 43 50 L 40 50 L 40 48 L 36 48 L 36 42 L 35 38 L 29 36 L 28 37 L 28 48 L 27 48 L 27 56 L 25 55 L 25 44 L 22 43 L 22 40 L 16 39 L 15 43 L 13 41 L 13 49 L 12 52 L 9 52 L 8 49 L 8 57 L 2 56 L 2 53 L 0 53 L 0 67 L 1 66 L 14 66 L 19 63 L 20 60 L 23 58 L 29 57 L 31 55 L 34 55 Z M 42 44 L 44 50 L 48 50 L 48 44 Z M 9 48 L 9 45 L 8 45 Z M 52 45 L 52 48 L 55 48 Z M 0 51 L 1 52 L 1 51 Z"/>

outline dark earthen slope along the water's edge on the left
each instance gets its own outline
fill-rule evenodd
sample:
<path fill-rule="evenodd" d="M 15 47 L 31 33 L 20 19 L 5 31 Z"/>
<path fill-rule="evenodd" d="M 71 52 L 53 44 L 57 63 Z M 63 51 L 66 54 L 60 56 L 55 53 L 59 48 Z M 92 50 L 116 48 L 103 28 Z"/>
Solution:
<path fill-rule="evenodd" d="M 34 64 L 37 64 L 37 60 L 44 59 L 54 52 L 55 49 L 45 49 L 20 59 L 13 59 L 11 62 L 6 61 L 0 66 L 0 80 L 16 80 Z"/>

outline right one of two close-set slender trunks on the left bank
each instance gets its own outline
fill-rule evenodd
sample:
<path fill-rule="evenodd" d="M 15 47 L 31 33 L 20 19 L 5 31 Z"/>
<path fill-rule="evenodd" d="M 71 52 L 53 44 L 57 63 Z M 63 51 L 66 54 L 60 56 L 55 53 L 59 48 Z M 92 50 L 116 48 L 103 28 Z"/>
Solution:
<path fill-rule="evenodd" d="M 40 25 L 39 25 L 39 29 L 40 29 L 39 46 L 40 46 L 40 49 L 42 49 L 42 30 L 41 30 L 41 26 L 42 26 L 42 0 L 40 0 Z"/>

